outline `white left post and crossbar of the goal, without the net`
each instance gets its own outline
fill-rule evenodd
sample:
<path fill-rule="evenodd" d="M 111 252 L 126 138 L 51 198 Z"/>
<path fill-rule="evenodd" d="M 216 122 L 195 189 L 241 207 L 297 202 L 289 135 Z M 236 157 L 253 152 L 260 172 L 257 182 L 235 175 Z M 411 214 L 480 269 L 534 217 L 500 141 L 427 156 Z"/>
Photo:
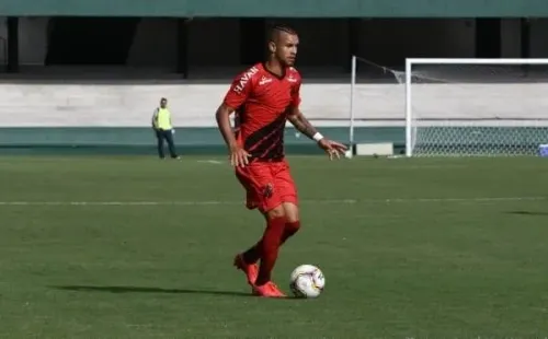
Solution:
<path fill-rule="evenodd" d="M 530 66 L 545 65 L 548 66 L 548 59 L 530 58 L 408 58 L 406 59 L 406 155 L 413 156 L 412 144 L 412 128 L 413 128 L 413 85 L 412 74 L 413 65 L 477 65 L 477 66 Z"/>

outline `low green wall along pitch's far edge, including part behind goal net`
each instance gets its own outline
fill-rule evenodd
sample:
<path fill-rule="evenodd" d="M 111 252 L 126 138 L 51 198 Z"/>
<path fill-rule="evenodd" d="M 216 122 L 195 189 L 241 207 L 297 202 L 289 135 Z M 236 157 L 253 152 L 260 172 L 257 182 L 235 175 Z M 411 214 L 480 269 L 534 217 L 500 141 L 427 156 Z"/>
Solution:
<path fill-rule="evenodd" d="M 322 127 L 327 137 L 349 142 L 347 127 Z M 393 142 L 404 150 L 402 127 L 357 127 L 354 141 Z M 431 127 L 422 131 L 416 150 L 444 154 L 536 154 L 547 143 L 546 127 Z M 285 133 L 289 154 L 319 153 L 318 147 L 295 129 Z M 175 143 L 181 154 L 227 153 L 216 128 L 179 128 Z M 0 154 L 156 154 L 150 128 L 0 128 Z"/>

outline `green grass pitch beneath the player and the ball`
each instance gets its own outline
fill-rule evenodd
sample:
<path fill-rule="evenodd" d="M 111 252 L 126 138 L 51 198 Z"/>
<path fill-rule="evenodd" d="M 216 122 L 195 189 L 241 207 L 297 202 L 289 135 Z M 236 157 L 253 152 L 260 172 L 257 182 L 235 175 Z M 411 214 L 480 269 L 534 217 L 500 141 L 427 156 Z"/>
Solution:
<path fill-rule="evenodd" d="M 249 295 L 263 222 L 224 162 L 0 157 L 0 337 L 548 336 L 547 160 L 290 162 L 274 277 L 318 265 L 318 300 Z"/>

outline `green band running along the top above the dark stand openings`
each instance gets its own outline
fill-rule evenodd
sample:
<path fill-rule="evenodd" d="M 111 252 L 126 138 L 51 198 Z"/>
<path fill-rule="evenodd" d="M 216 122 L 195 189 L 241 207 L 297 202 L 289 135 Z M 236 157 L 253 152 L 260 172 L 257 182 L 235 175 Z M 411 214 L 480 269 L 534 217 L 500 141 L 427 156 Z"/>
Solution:
<path fill-rule="evenodd" d="M 547 0 L 2 0 L 13 16 L 548 16 Z"/>

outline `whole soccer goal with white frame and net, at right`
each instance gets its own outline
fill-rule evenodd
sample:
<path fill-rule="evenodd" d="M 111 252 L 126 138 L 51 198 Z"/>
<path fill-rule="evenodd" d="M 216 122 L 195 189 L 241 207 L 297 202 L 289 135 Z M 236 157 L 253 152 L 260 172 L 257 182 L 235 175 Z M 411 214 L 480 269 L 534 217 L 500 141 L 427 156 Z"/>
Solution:
<path fill-rule="evenodd" d="M 548 59 L 407 59 L 406 154 L 536 155 L 547 94 Z"/>

